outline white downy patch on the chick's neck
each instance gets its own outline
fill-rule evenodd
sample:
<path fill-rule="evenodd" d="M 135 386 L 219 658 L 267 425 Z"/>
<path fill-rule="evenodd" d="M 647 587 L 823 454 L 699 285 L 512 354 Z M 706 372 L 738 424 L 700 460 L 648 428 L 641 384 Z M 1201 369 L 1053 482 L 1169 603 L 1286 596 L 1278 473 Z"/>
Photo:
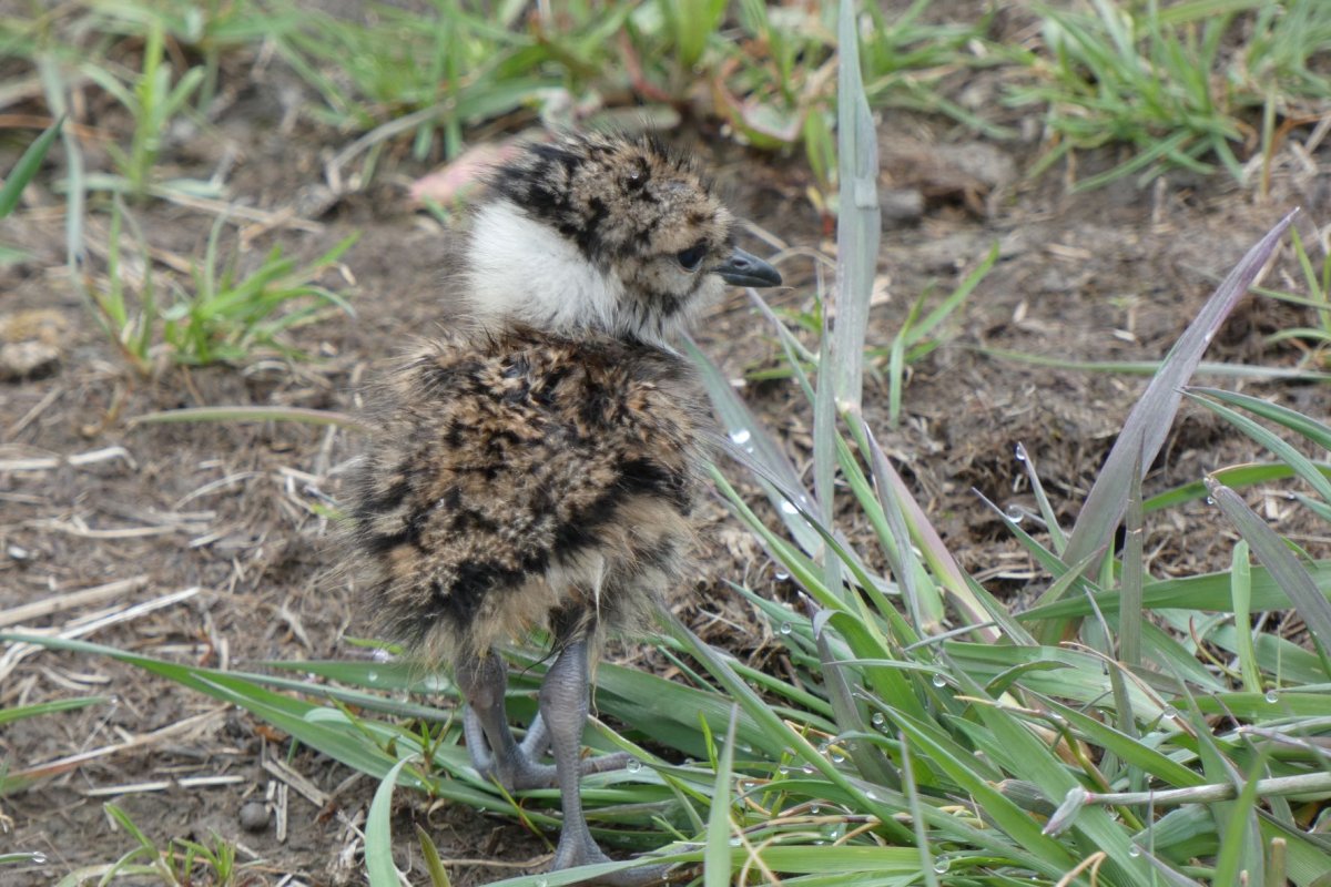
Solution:
<path fill-rule="evenodd" d="M 548 332 L 616 332 L 624 285 L 578 245 L 506 199 L 473 219 L 466 298 L 482 323 L 524 323 Z"/>

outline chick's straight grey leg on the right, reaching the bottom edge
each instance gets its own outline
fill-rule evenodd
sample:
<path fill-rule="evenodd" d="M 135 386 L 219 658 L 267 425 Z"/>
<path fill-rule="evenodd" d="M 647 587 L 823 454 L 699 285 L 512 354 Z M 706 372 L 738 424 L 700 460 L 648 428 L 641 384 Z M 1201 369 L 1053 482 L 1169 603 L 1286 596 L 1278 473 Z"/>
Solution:
<path fill-rule="evenodd" d="M 582 806 L 579 781 L 583 773 L 580 754 L 582 734 L 587 726 L 587 641 L 578 638 L 559 652 L 559 657 L 546 672 L 546 681 L 540 685 L 540 717 L 544 721 L 544 730 L 550 734 L 564 814 L 563 831 L 559 834 L 559 846 L 551 863 L 552 871 L 611 862 L 592 839 Z M 630 868 L 603 875 L 595 883 L 611 887 L 660 884 L 667 876 L 667 868 L 668 866 Z"/>

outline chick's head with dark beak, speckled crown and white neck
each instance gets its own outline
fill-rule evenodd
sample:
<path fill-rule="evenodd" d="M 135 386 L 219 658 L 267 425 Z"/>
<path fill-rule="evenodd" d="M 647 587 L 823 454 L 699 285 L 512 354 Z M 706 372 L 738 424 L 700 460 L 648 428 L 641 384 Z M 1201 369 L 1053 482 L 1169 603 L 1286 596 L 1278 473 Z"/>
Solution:
<path fill-rule="evenodd" d="M 725 283 L 781 282 L 733 229 L 693 164 L 656 141 L 563 136 L 491 174 L 462 289 L 482 323 L 660 344 Z"/>

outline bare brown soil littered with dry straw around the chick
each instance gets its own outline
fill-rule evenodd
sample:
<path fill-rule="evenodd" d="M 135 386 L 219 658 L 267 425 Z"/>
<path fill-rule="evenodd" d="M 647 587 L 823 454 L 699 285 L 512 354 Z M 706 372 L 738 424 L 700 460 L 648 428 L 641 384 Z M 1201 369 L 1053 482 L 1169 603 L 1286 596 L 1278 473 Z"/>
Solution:
<path fill-rule="evenodd" d="M 381 158 L 369 189 L 311 199 L 326 185 L 323 158 L 349 137 L 286 114 L 298 81 L 277 65 L 260 69 L 253 61 L 228 64 L 230 104 L 216 129 L 172 133 L 168 165 L 172 174 L 206 178 L 228 164 L 230 199 L 273 217 L 270 230 L 249 231 L 244 261 L 250 266 L 273 245 L 309 259 L 361 231 L 345 259 L 357 317 L 334 313 L 299 330 L 293 339 L 314 355 L 309 362 L 269 355 L 237 367 L 162 367 L 152 378 L 138 376 L 71 286 L 63 201 L 37 189 L 36 206 L 0 227 L 0 241 L 32 253 L 21 265 L 0 267 L 0 314 L 52 313 L 36 331 L 31 324 L 5 330 L 15 340 L 48 330 L 47 340 L 60 356 L 37 376 L 0 382 L 0 618 L 20 605 L 118 582 L 109 596 L 21 625 L 76 626 L 81 617 L 156 602 L 156 609 L 88 640 L 224 666 L 366 656 L 343 640 L 362 630 L 363 618 L 354 589 L 330 569 L 335 552 L 329 524 L 315 509 L 326 497 L 338 497 L 361 447 L 355 435 L 295 423 L 130 423 L 153 410 L 209 404 L 354 412 L 362 383 L 386 359 L 413 335 L 449 322 L 434 297 L 439 243 L 447 234 L 406 195 L 406 185 L 430 165 L 414 162 L 406 145 L 397 145 Z M 993 84 L 958 84 L 958 93 L 962 88 L 984 93 Z M 84 122 L 126 132 L 109 102 L 87 113 Z M 913 368 L 901 426 L 888 426 L 885 390 L 870 386 L 866 394 L 868 415 L 885 448 L 949 548 L 988 588 L 1018 600 L 1040 588 L 1040 577 L 973 491 L 1000 505 L 1030 504 L 1013 457 L 1014 444 L 1022 442 L 1070 523 L 1145 382 L 1001 360 L 980 347 L 1083 360 L 1157 359 L 1214 283 L 1291 206 L 1307 207 L 1299 227 L 1306 242 L 1315 242 L 1311 225 L 1326 222 L 1318 207 L 1328 205 L 1331 193 L 1331 148 L 1323 144 L 1311 164 L 1282 150 L 1270 195 L 1260 199 L 1222 174 L 1173 177 L 1143 189 L 1129 181 L 1073 194 L 1067 170 L 1025 178 L 1040 150 L 1040 132 L 1022 132 L 1029 133 L 1025 140 L 990 142 L 940 118 L 882 114 L 884 286 L 870 343 L 890 342 L 922 287 L 950 291 L 996 241 L 1001 259 L 952 322 L 953 338 Z M 780 266 L 791 286 L 773 302 L 808 309 L 808 253 L 828 254 L 835 246 L 825 237 L 825 219 L 805 197 L 812 180 L 803 162 L 751 153 L 708 121 L 692 121 L 676 138 L 707 158 L 737 213 L 788 245 Z M 91 166 L 106 162 L 96 138 L 85 149 Z M 1115 160 L 1082 157 L 1075 174 Z M 3 168 L 12 161 L 11 154 L 0 156 Z M 49 169 L 60 168 L 53 158 Z M 160 261 L 202 254 L 212 215 L 166 202 L 134 211 Z M 91 233 L 93 243 L 105 237 L 100 226 Z M 777 251 L 757 238 L 744 245 L 760 254 Z M 97 273 L 100 262 L 95 246 Z M 1298 289 L 1292 271 L 1286 255 L 1268 283 Z M 330 273 L 326 282 L 347 286 L 335 277 Z M 1312 326 L 1312 317 L 1248 298 L 1207 359 L 1295 366 L 1304 356 L 1295 346 L 1263 342 L 1291 326 Z M 777 347 L 737 291 L 705 318 L 697 338 L 733 378 L 777 362 Z M 1324 412 L 1322 386 L 1206 382 L 1276 396 L 1312 415 Z M 809 419 L 797 390 L 765 382 L 745 384 L 743 392 L 805 464 Z M 1158 492 L 1259 455 L 1209 415 L 1185 408 L 1147 488 Z M 1260 499 L 1258 493 L 1251 501 Z M 1267 500 L 1270 508 L 1284 508 L 1276 496 Z M 1230 537 L 1214 520 L 1202 504 L 1153 517 L 1146 547 L 1153 572 L 1222 567 Z M 789 596 L 795 589 L 773 576 L 720 505 L 705 521 L 703 569 L 691 586 L 677 589 L 675 605 L 713 644 L 767 656 L 769 629 L 723 580 L 767 594 Z M 1324 539 L 1300 541 L 1324 548 Z M 634 650 L 623 656 L 631 658 Z M 7 883 L 53 883 L 130 850 L 132 838 L 114 830 L 102 811 L 108 799 L 160 843 L 206 839 L 212 831 L 236 842 L 242 862 L 262 860 L 238 883 L 361 883 L 357 827 L 375 787 L 371 779 L 307 750 L 287 757 L 285 743 L 274 742 L 248 714 L 130 666 L 51 652 L 5 657 L 0 650 L 0 707 L 81 694 L 114 698 L 0 730 L 0 754 L 11 771 L 88 755 L 81 766 L 0 799 L 8 826 L 0 831 L 0 850 L 48 858 L 43 867 L 7 868 Z M 108 751 L 110 746 L 117 749 Z M 313 799 L 289 793 L 281 838 L 272 824 L 246 830 L 246 803 L 294 782 L 286 775 L 291 770 L 313 786 Z M 225 779 L 182 787 L 180 781 L 192 777 Z M 156 781 L 168 785 L 117 790 Z M 520 826 L 469 809 L 413 814 L 429 823 L 446 858 L 473 860 L 453 866 L 455 884 L 516 874 L 540 864 L 548 851 Z"/>

